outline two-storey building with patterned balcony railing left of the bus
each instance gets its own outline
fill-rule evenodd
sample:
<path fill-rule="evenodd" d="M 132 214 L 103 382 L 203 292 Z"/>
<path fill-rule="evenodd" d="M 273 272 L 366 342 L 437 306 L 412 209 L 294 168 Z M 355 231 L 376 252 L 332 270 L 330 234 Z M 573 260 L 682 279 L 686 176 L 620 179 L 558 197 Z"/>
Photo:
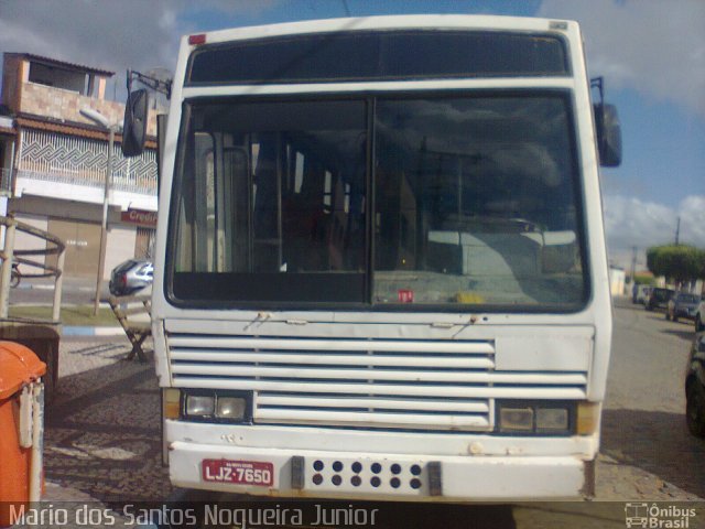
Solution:
<path fill-rule="evenodd" d="M 124 106 L 105 98 L 106 69 L 28 53 L 6 53 L 0 107 L 1 193 L 18 220 L 61 237 L 66 276 L 95 277 L 108 133 L 80 110 L 121 122 Z M 153 119 L 152 119 L 153 121 Z M 150 123 L 148 134 L 154 134 Z M 104 276 L 120 261 L 150 252 L 156 220 L 156 151 L 152 138 L 135 159 L 116 137 Z M 2 213 L 2 212 L 0 212 Z M 18 248 L 29 247 L 18 238 Z"/>

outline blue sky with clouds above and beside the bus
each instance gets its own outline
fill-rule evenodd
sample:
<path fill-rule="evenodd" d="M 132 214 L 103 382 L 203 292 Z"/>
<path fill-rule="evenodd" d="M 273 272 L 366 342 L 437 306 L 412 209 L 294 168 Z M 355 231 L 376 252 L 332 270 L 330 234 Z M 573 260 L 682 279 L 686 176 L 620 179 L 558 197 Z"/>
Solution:
<path fill-rule="evenodd" d="M 644 250 L 705 248 L 705 1 L 703 0 L 0 0 L 0 52 L 116 72 L 173 71 L 182 34 L 376 14 L 505 14 L 577 20 L 588 74 L 617 105 L 623 158 L 604 170 L 610 260 L 646 269 Z"/>

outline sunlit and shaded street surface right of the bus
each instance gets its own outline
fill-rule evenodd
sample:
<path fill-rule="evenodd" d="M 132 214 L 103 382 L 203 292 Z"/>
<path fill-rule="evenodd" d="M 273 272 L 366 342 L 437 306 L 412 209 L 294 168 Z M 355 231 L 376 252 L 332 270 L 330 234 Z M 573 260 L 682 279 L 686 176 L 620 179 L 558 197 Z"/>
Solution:
<path fill-rule="evenodd" d="M 684 417 L 693 336 L 691 321 L 617 304 L 598 474 L 606 499 L 705 499 L 705 442 Z"/>

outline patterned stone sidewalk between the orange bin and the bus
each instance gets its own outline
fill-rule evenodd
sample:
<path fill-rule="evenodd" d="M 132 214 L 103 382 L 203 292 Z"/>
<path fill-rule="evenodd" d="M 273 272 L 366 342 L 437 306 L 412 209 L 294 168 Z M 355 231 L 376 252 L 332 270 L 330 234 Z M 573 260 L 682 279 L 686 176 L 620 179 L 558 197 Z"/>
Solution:
<path fill-rule="evenodd" d="M 154 366 L 124 361 L 129 350 L 127 338 L 61 344 L 45 415 L 44 501 L 160 501 L 171 493 Z"/>

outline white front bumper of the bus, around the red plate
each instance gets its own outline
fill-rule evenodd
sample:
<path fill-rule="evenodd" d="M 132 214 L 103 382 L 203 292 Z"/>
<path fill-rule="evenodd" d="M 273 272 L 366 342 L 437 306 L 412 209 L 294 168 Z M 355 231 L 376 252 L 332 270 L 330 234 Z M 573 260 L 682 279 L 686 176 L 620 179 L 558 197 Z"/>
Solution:
<path fill-rule="evenodd" d="M 594 461 L 584 455 L 419 455 L 187 441 L 169 445 L 171 481 L 177 487 L 348 500 L 507 501 L 592 496 Z M 205 472 L 206 460 L 270 465 L 272 481 L 249 485 L 213 479 Z"/>

